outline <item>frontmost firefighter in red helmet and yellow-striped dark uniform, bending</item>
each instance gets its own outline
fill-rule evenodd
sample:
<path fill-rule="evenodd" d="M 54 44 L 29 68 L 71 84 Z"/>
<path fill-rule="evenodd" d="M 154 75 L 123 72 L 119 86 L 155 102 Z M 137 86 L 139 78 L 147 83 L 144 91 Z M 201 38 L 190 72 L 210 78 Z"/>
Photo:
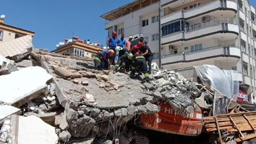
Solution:
<path fill-rule="evenodd" d="M 149 82 L 149 73 L 147 70 L 147 63 L 144 58 L 140 53 L 140 47 L 138 46 L 133 46 L 133 66 L 132 66 L 132 71 L 130 73 L 130 77 L 133 78 L 135 76 L 135 72 L 142 72 L 145 76 L 145 80 Z"/>

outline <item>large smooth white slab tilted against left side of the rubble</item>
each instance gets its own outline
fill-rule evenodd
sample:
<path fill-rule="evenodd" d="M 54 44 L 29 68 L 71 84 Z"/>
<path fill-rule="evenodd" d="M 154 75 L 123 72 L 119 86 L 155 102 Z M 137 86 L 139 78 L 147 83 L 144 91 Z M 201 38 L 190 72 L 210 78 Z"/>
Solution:
<path fill-rule="evenodd" d="M 0 76 L 0 101 L 19 107 L 37 98 L 46 88 L 52 76 L 42 67 L 26 67 Z"/>

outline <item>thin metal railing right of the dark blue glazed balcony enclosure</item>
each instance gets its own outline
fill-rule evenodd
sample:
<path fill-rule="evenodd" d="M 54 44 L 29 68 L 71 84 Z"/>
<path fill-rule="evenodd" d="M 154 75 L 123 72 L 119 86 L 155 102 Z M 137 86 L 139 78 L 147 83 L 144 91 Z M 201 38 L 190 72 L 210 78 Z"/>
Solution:
<path fill-rule="evenodd" d="M 197 26 L 192 26 L 192 27 L 186 28 L 185 32 L 191 32 L 191 31 L 194 31 L 194 30 L 199 30 L 199 29 L 202 29 L 202 28 L 210 27 L 210 26 L 215 26 L 215 25 L 218 25 L 220 23 L 229 23 L 229 24 L 236 24 L 236 25 L 238 24 L 237 21 L 234 20 L 234 19 L 216 19 L 216 20 L 212 20 L 212 21 L 209 21 L 209 22 L 206 22 L 206 23 L 198 24 Z"/>

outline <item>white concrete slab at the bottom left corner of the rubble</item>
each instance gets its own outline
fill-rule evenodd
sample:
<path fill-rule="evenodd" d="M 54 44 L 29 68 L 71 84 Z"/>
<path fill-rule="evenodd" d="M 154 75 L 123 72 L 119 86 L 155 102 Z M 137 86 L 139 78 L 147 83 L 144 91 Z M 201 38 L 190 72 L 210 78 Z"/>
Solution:
<path fill-rule="evenodd" d="M 57 144 L 55 128 L 36 116 L 11 116 L 12 144 Z"/>

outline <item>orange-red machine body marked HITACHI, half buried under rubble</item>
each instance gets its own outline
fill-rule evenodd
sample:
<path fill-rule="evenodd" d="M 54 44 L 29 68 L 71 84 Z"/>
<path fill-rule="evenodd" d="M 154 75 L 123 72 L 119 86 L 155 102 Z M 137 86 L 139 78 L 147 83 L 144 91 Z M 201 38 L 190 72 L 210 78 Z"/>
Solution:
<path fill-rule="evenodd" d="M 159 112 L 155 114 L 141 114 L 138 126 L 146 129 L 173 133 L 177 135 L 198 136 L 204 125 L 202 111 L 188 114 L 187 117 L 176 114 L 169 104 L 162 102 Z"/>

